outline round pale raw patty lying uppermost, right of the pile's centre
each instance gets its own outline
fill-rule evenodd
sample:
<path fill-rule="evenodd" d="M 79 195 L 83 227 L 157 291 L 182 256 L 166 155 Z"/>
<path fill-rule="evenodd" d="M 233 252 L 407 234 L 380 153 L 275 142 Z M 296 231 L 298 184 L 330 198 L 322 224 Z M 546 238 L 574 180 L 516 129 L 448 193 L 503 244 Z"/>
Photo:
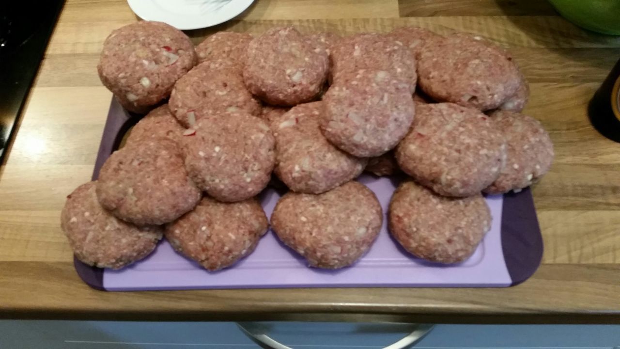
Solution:
<path fill-rule="evenodd" d="M 379 156 L 391 150 L 414 119 L 407 85 L 384 70 L 342 75 L 323 100 L 325 138 L 354 156 Z"/>

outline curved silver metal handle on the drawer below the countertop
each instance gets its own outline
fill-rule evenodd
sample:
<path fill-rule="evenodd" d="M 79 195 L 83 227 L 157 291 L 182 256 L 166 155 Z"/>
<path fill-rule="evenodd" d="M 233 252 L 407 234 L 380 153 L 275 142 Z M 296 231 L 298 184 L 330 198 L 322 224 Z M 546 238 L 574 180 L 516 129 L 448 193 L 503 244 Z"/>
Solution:
<path fill-rule="evenodd" d="M 268 349 L 294 349 L 287 347 L 265 333 L 265 327 L 259 322 L 237 322 L 237 326 L 243 333 L 246 333 L 252 341 L 260 345 L 262 348 Z M 433 325 L 415 324 L 415 329 L 401 340 L 384 347 L 383 349 L 405 349 L 424 338 L 431 330 Z"/>

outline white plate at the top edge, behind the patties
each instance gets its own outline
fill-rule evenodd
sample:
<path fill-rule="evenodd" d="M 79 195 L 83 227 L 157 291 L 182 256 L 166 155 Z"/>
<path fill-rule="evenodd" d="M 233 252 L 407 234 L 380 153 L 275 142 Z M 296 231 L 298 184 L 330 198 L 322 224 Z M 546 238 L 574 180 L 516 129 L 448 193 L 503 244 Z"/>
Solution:
<path fill-rule="evenodd" d="M 144 20 L 165 22 L 180 30 L 200 29 L 232 19 L 254 0 L 127 0 Z"/>

